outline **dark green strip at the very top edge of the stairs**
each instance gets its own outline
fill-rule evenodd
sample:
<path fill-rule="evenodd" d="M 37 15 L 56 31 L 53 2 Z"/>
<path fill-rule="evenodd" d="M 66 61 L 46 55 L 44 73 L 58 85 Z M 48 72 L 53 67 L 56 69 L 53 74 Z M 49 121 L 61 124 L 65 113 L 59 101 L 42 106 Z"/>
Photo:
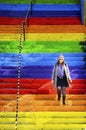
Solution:
<path fill-rule="evenodd" d="M 28 4 L 28 0 L 0 0 L 0 3 Z M 80 0 L 35 0 L 35 3 L 79 4 Z"/>

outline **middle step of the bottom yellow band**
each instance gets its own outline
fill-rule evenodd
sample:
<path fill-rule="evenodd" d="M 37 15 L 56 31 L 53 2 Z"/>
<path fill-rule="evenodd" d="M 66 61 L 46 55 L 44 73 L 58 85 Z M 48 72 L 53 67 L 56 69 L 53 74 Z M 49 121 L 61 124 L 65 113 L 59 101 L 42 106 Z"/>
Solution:
<path fill-rule="evenodd" d="M 84 124 L 86 122 L 86 118 L 36 118 L 36 120 L 33 118 L 19 118 L 18 122 L 23 124 L 23 123 L 36 123 L 36 124 L 42 124 L 43 121 L 49 124 Z M 0 123 L 14 123 L 15 122 L 15 118 L 0 118 Z"/>

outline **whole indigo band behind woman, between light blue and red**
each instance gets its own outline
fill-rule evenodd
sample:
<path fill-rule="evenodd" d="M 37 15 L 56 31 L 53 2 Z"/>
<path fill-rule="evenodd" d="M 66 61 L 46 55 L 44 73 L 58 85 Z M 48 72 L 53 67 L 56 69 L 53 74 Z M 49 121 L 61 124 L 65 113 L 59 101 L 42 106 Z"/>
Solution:
<path fill-rule="evenodd" d="M 25 66 L 21 68 L 21 78 L 51 78 L 53 66 Z M 73 79 L 86 78 L 86 66 L 70 66 Z M 17 67 L 0 67 L 0 78 L 17 78 Z"/>

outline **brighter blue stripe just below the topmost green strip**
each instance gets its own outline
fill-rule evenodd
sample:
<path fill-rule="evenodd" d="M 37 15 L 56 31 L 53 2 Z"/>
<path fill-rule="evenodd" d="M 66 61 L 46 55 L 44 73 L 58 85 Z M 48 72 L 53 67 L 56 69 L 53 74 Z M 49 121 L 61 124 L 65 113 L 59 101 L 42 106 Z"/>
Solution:
<path fill-rule="evenodd" d="M 26 11 L 27 9 L 28 4 L 0 4 L 0 11 Z M 32 9 L 33 11 L 80 11 L 80 4 L 33 4 Z"/>

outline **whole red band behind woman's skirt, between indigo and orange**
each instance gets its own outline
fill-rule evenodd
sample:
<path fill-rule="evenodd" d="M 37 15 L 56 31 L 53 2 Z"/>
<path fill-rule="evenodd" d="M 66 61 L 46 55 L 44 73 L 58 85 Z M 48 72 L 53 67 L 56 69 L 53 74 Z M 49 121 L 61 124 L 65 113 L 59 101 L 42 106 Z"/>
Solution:
<path fill-rule="evenodd" d="M 73 80 L 72 87 L 67 89 L 67 94 L 85 94 L 86 80 Z M 50 79 L 21 79 L 20 94 L 55 94 Z M 16 94 L 17 79 L 0 79 L 0 94 Z"/>

